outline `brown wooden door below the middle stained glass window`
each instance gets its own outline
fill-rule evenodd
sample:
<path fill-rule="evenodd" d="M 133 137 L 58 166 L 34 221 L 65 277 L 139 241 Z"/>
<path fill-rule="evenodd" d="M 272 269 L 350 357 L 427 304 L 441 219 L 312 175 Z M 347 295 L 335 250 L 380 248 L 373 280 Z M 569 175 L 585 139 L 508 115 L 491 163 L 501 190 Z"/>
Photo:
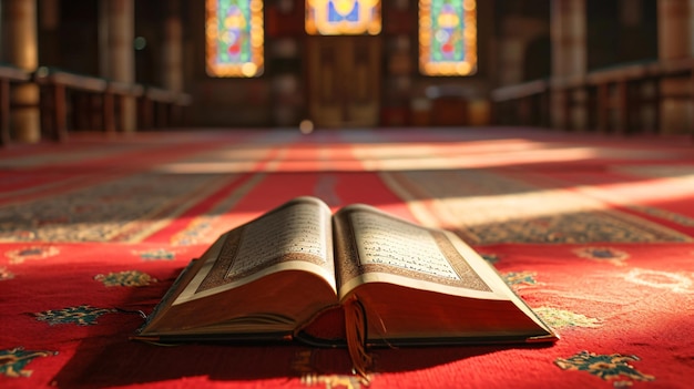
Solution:
<path fill-rule="evenodd" d="M 375 126 L 379 122 L 380 38 L 310 37 L 308 110 L 316 126 Z"/>

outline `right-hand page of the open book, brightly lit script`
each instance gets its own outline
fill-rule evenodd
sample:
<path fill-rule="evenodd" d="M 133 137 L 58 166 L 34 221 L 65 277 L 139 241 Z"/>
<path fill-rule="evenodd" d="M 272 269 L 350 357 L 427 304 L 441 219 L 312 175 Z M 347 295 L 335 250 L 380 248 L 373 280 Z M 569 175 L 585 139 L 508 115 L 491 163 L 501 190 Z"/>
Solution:
<path fill-rule="evenodd" d="M 385 281 L 451 295 L 509 298 L 483 259 L 472 249 L 461 250 L 467 245 L 455 242 L 459 239 L 450 233 L 365 205 L 343 209 L 336 228 L 341 234 L 336 254 L 340 297 L 360 284 Z"/>

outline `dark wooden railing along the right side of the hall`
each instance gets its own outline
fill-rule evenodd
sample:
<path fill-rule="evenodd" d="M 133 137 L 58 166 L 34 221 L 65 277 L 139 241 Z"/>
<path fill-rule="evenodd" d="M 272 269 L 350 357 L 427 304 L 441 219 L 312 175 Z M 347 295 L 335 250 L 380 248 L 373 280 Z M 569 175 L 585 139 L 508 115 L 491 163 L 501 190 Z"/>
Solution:
<path fill-rule="evenodd" d="M 674 98 L 694 105 L 694 59 L 625 63 L 581 76 L 524 82 L 498 88 L 491 99 L 499 124 L 550 126 L 550 99 L 560 99 L 563 104 L 552 108 L 563 111 L 558 116 L 564 123 L 554 123 L 558 127 L 571 129 L 572 109 L 582 104 L 591 129 L 650 132 L 657 127 L 664 79 L 686 83 L 685 92 Z"/>

